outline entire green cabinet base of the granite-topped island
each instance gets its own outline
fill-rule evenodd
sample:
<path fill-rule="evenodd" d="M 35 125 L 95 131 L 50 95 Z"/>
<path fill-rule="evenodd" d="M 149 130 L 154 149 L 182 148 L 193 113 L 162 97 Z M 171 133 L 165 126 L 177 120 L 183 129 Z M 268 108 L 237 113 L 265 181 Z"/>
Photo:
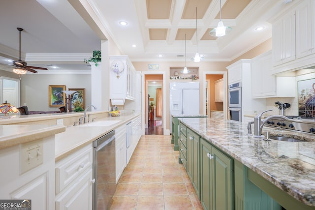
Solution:
<path fill-rule="evenodd" d="M 183 163 L 204 210 L 315 210 L 179 122 Z"/>

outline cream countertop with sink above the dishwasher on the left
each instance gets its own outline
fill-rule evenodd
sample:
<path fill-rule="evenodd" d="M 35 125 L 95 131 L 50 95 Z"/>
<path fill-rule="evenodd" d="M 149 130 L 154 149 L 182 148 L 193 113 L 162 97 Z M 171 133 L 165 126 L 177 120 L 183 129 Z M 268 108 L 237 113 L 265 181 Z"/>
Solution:
<path fill-rule="evenodd" d="M 55 161 L 85 147 L 96 139 L 140 116 L 140 113 L 126 113 L 119 117 L 95 119 L 95 122 L 66 127 L 65 132 L 56 135 Z M 101 121 L 112 121 L 111 125 L 101 125 Z"/>

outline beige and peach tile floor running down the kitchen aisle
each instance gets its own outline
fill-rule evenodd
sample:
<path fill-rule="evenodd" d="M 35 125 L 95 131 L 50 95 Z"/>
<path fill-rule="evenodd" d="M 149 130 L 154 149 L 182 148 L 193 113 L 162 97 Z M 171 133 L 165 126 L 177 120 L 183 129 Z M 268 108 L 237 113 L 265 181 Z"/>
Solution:
<path fill-rule="evenodd" d="M 202 210 L 171 136 L 141 137 L 117 183 L 110 210 Z"/>

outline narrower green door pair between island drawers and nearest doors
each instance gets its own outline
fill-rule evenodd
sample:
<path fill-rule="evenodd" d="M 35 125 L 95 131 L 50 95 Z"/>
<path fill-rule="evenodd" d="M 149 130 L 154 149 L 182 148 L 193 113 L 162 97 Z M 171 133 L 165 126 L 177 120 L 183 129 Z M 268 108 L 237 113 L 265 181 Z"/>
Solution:
<path fill-rule="evenodd" d="M 200 137 L 187 128 L 187 174 L 200 199 Z"/>

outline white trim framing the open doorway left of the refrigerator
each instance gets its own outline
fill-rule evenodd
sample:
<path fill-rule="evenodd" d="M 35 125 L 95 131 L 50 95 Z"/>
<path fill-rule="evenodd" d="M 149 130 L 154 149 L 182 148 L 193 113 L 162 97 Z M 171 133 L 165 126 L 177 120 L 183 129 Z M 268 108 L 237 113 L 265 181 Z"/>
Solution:
<path fill-rule="evenodd" d="M 145 125 L 145 75 L 146 74 L 162 74 L 163 75 L 163 135 L 169 135 L 170 130 L 166 129 L 166 73 L 165 71 L 143 71 L 142 72 L 142 124 Z M 142 130 L 142 135 L 145 135 L 145 129 Z"/>

